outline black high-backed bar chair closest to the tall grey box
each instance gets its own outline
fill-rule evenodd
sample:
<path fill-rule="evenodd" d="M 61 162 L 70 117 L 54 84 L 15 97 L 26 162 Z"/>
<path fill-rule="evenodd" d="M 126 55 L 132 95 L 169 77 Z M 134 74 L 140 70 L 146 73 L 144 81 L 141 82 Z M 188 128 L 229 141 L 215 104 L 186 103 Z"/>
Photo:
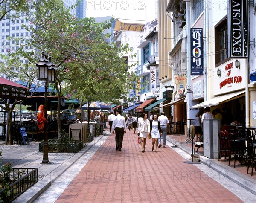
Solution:
<path fill-rule="evenodd" d="M 219 160 L 224 156 L 224 162 L 226 162 L 227 156 L 230 157 L 230 139 L 225 131 L 218 131 L 218 137 L 220 140 Z"/>

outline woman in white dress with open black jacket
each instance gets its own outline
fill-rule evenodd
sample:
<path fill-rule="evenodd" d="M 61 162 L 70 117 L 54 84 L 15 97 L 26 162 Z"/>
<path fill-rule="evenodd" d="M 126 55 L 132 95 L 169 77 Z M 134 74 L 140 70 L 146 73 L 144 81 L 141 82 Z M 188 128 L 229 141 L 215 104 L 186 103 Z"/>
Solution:
<path fill-rule="evenodd" d="M 158 139 L 160 135 L 163 135 L 160 122 L 157 120 L 157 114 L 154 114 L 153 120 L 149 121 L 148 129 L 152 137 L 152 151 L 154 150 L 154 145 L 156 145 L 155 152 L 157 152 Z"/>

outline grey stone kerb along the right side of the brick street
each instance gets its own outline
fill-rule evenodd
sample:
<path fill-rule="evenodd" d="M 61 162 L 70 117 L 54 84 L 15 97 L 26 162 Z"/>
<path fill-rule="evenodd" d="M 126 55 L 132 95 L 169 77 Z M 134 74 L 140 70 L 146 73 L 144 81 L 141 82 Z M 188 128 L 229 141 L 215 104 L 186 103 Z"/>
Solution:
<path fill-rule="evenodd" d="M 185 151 L 187 154 L 192 153 L 192 148 L 176 141 L 175 139 L 168 137 L 166 138 L 169 142 L 171 142 L 173 145 L 177 146 L 181 150 Z M 199 154 L 199 160 L 204 165 L 207 165 L 209 168 L 212 168 L 213 170 L 217 171 L 219 174 L 221 174 L 224 177 L 227 177 L 234 183 L 238 184 L 242 188 L 246 189 L 247 191 L 250 191 L 252 194 L 256 195 L 256 185 L 255 181 L 248 177 L 247 175 L 244 175 L 240 173 L 239 171 L 236 171 L 235 169 L 224 165 L 215 159 L 209 159 L 207 157 L 204 157 Z"/>

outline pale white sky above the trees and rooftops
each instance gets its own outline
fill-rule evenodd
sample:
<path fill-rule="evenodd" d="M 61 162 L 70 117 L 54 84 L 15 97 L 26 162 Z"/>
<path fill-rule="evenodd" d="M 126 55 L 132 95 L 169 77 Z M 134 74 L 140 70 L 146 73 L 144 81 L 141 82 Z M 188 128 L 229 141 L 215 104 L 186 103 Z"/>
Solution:
<path fill-rule="evenodd" d="M 113 16 L 147 22 L 157 18 L 155 0 L 86 0 L 86 7 L 86 17 Z"/>

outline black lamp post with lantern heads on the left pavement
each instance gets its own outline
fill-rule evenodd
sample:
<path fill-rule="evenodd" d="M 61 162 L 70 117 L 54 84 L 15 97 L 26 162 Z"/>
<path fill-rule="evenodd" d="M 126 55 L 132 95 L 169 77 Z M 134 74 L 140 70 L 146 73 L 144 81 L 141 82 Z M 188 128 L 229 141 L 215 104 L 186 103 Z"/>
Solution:
<path fill-rule="evenodd" d="M 48 121 L 47 121 L 47 106 L 48 106 L 48 82 L 55 81 L 55 70 L 57 68 L 50 60 L 48 60 L 48 54 L 42 52 L 42 58 L 39 59 L 36 64 L 38 67 L 38 80 L 45 81 L 45 93 L 44 93 L 44 115 L 46 115 L 46 122 L 44 122 L 44 154 L 42 164 L 50 164 L 48 158 Z"/>

